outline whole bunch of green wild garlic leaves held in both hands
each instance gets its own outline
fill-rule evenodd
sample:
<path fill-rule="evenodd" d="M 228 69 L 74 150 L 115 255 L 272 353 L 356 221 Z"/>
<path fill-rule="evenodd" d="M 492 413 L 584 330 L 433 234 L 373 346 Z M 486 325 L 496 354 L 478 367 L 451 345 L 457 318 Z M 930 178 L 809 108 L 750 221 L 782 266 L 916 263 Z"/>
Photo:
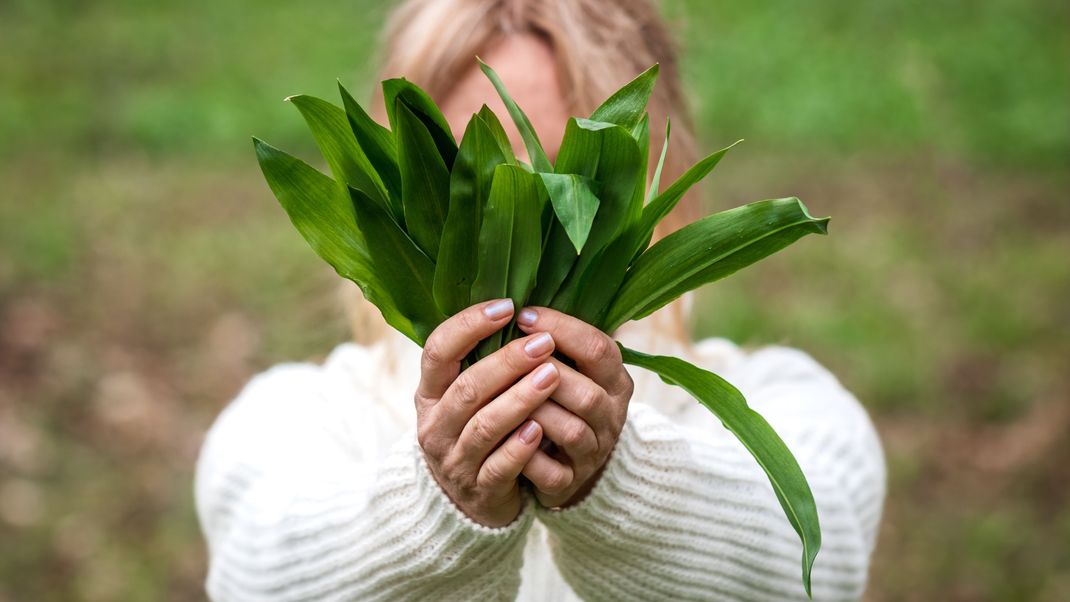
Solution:
<path fill-rule="evenodd" d="M 788 198 L 707 216 L 649 245 L 658 222 L 731 148 L 659 191 L 667 124 L 646 188 L 646 103 L 658 66 L 588 119 L 569 119 L 554 163 L 498 75 L 480 66 L 520 130 L 531 165 L 514 156 L 486 105 L 457 144 L 431 98 L 404 79 L 383 82 L 389 129 L 340 84 L 343 107 L 307 95 L 288 98 L 334 179 L 254 139 L 264 177 L 302 236 L 418 344 L 448 315 L 501 297 L 516 307 L 551 307 L 613 333 L 805 234 L 826 232 L 827 218 L 811 217 L 798 199 Z M 517 336 L 515 326 L 499 331 L 467 364 Z M 810 593 L 821 529 L 810 487 L 783 441 L 720 376 L 675 357 L 621 351 L 625 362 L 686 389 L 758 460 L 802 540 Z"/>

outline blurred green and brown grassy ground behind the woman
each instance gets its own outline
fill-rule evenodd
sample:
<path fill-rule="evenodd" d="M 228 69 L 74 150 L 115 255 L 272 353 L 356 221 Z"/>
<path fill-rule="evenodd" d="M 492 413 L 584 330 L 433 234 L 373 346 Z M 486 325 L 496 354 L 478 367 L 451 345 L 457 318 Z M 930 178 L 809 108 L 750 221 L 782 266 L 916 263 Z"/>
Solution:
<path fill-rule="evenodd" d="M 1070 600 L 1070 4 L 664 0 L 710 210 L 831 215 L 701 296 L 812 353 L 890 468 L 871 601 Z M 198 600 L 204 430 L 348 337 L 250 135 L 370 95 L 370 0 L 0 0 L 0 601 Z M 319 164 L 318 164 L 319 165 Z"/>

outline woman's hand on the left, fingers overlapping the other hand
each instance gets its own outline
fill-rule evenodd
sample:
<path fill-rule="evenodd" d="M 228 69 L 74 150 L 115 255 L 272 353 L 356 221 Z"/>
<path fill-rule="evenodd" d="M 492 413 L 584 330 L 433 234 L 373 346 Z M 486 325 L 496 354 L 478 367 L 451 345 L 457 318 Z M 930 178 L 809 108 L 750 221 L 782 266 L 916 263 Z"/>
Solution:
<path fill-rule="evenodd" d="M 464 372 L 461 360 L 513 318 L 513 302 L 474 305 L 439 325 L 424 344 L 416 389 L 416 434 L 427 465 L 473 521 L 508 525 L 520 513 L 518 477 L 538 450 L 542 428 L 529 416 L 557 388 L 553 338 L 517 339 Z"/>

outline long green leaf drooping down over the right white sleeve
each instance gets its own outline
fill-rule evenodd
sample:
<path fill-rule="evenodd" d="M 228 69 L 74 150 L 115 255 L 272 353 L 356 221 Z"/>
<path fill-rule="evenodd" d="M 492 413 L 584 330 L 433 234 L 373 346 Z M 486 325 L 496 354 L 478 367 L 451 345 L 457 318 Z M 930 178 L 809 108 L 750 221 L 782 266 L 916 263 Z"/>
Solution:
<path fill-rule="evenodd" d="M 807 596 L 812 597 L 810 572 L 821 550 L 821 524 L 810 484 L 791 449 L 761 414 L 747 406 L 743 393 L 724 379 L 675 357 L 646 355 L 620 346 L 625 364 L 649 370 L 666 383 L 691 393 L 754 457 L 769 478 L 788 522 L 802 540 L 802 585 Z"/>

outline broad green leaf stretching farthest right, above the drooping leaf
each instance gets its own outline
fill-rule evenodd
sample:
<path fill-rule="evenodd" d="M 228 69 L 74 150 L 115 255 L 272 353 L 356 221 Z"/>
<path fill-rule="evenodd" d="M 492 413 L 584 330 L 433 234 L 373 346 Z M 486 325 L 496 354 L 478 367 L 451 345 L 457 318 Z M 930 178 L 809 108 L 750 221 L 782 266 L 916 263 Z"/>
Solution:
<path fill-rule="evenodd" d="M 814 218 L 796 198 L 759 201 L 704 217 L 669 234 L 632 264 L 603 329 L 615 330 L 687 291 L 768 257 L 806 234 L 825 234 L 828 218 Z"/>

